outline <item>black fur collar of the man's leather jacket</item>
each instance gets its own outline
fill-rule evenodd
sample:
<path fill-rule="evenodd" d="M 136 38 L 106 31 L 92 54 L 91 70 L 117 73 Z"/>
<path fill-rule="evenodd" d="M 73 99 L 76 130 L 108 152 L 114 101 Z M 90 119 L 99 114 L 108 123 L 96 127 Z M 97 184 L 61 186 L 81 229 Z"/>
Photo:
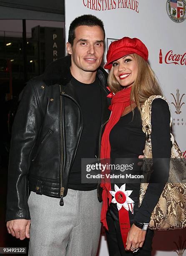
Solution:
<path fill-rule="evenodd" d="M 44 82 L 46 85 L 50 86 L 53 84 L 68 84 L 72 77 L 70 73 L 70 66 L 71 56 L 65 56 L 64 58 L 50 63 L 44 73 Z M 103 87 L 108 93 L 108 90 L 106 89 L 106 81 L 108 77 L 107 72 L 102 67 L 99 67 L 96 76 L 101 81 Z"/>

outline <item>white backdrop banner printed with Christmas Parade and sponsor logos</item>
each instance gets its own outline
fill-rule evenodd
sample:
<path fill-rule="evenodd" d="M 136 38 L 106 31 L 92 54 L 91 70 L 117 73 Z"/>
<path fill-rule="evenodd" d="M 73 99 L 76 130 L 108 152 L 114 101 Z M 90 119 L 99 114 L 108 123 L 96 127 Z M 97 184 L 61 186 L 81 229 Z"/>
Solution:
<path fill-rule="evenodd" d="M 65 0 L 66 41 L 70 22 L 83 14 L 103 20 L 103 64 L 114 40 L 129 36 L 146 44 L 148 62 L 170 104 L 173 133 L 186 157 L 186 0 Z M 185 248 L 186 229 L 155 232 L 153 256 L 184 256 Z M 98 255 L 108 255 L 104 236 Z"/>

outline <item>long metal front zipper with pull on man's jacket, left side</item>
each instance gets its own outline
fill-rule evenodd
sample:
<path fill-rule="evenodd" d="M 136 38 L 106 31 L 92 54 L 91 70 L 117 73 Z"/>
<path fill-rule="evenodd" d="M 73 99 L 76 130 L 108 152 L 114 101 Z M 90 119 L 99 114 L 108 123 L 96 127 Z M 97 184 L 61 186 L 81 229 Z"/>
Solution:
<path fill-rule="evenodd" d="M 63 123 L 62 123 L 62 90 L 60 85 L 60 150 L 61 150 L 61 158 L 60 158 L 60 206 L 64 205 L 63 202 L 63 194 L 64 194 L 64 187 L 63 187 Z"/>

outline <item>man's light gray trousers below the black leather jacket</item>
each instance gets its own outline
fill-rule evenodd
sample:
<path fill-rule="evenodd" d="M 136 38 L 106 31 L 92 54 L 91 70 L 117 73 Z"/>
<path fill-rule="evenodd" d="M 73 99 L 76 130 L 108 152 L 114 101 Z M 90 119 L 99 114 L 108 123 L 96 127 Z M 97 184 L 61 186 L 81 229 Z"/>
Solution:
<path fill-rule="evenodd" d="M 97 190 L 68 189 L 60 199 L 31 192 L 29 256 L 96 256 L 101 223 Z"/>

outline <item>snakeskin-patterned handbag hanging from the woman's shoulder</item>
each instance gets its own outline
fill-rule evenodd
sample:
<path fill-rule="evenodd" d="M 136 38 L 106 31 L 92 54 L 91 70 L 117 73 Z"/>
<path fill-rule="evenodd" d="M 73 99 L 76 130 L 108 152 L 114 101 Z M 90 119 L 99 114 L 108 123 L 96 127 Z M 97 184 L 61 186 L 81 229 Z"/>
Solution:
<path fill-rule="evenodd" d="M 153 100 L 157 98 L 166 100 L 160 95 L 153 95 L 145 101 L 141 109 L 143 126 L 142 130 L 144 133 L 146 133 L 143 163 L 143 165 L 146 165 L 145 169 L 150 169 L 150 165 L 152 165 L 152 161 L 147 161 L 146 163 L 146 159 L 152 159 L 152 146 L 150 138 L 151 105 Z M 171 121 L 172 119 L 170 120 L 170 126 Z M 152 230 L 173 230 L 186 227 L 186 164 L 172 134 L 171 141 L 173 146 L 171 149 L 169 178 L 159 198 L 159 201 L 151 214 L 149 228 Z M 139 206 L 143 201 L 147 187 L 148 183 L 141 183 Z"/>

